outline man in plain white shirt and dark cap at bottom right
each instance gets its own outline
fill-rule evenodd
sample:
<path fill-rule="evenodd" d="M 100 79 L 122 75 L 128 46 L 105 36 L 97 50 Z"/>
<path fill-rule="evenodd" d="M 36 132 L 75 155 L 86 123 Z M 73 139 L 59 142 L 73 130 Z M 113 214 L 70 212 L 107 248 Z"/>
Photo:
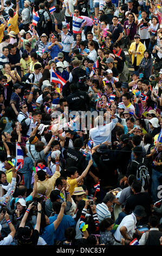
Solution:
<path fill-rule="evenodd" d="M 145 208 L 141 205 L 135 206 L 132 214 L 125 216 L 116 229 L 114 233 L 116 242 L 121 242 L 122 238 L 131 240 L 135 231 L 137 231 L 138 235 L 142 235 L 142 233 L 136 228 L 136 223 L 145 216 Z"/>

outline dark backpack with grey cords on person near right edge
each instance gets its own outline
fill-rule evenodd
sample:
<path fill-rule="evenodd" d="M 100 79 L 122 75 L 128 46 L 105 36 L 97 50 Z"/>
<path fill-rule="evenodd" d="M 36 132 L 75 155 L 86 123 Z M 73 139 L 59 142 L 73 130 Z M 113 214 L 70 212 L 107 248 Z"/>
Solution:
<path fill-rule="evenodd" d="M 138 163 L 135 160 L 133 160 L 132 162 L 135 162 L 138 164 L 136 178 L 137 178 L 137 180 L 139 180 L 141 182 L 144 190 L 147 190 L 148 185 L 150 184 L 150 174 L 148 173 L 148 168 L 147 168 L 146 164 L 144 163 L 144 158 L 142 158 L 141 163 Z"/>

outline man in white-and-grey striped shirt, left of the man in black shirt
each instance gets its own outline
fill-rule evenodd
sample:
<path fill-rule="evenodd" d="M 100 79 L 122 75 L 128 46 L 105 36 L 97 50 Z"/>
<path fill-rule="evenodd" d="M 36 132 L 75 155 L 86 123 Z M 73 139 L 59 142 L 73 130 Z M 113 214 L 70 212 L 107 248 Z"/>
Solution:
<path fill-rule="evenodd" d="M 108 193 L 103 198 L 102 203 L 96 205 L 96 214 L 98 215 L 99 222 L 104 218 L 111 218 L 111 211 L 113 210 L 112 205 L 116 200 L 113 193 Z"/>

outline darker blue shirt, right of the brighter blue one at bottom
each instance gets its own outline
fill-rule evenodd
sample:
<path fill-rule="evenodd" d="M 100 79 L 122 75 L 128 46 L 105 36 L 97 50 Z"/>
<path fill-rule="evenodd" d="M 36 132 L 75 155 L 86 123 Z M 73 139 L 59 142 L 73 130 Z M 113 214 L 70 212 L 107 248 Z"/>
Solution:
<path fill-rule="evenodd" d="M 49 217 L 50 221 L 54 222 L 57 219 L 57 216 L 58 214 L 55 214 L 54 216 Z M 59 240 L 59 241 L 66 240 L 66 237 L 64 237 L 64 231 L 69 227 L 74 227 L 74 225 L 75 225 L 75 221 L 72 218 L 72 216 L 63 214 L 59 227 L 57 227 L 57 229 L 55 230 L 55 240 Z"/>

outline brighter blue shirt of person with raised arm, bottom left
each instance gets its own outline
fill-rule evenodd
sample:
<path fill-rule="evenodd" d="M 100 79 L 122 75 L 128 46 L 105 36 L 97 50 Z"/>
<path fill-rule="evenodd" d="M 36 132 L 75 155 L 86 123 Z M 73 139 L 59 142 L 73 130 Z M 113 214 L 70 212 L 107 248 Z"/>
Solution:
<path fill-rule="evenodd" d="M 47 242 L 47 245 L 54 245 L 55 241 L 55 227 L 53 217 L 49 217 L 49 225 L 44 228 L 42 238 Z"/>

